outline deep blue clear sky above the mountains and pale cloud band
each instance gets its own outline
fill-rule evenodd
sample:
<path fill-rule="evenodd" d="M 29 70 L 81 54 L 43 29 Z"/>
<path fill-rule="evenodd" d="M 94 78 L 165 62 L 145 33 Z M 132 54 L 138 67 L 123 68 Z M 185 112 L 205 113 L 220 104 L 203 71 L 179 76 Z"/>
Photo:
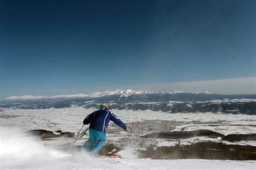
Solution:
<path fill-rule="evenodd" d="M 255 6 L 253 0 L 1 1 L 0 98 L 255 77 Z M 246 92 L 242 86 L 227 93 L 256 93 L 250 80 Z M 151 90 L 162 89 L 173 90 Z"/>

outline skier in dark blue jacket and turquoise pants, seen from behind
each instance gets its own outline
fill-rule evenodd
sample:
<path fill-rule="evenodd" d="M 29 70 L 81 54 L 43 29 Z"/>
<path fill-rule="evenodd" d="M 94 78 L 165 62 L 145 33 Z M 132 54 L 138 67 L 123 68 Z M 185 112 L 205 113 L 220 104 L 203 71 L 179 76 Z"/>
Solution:
<path fill-rule="evenodd" d="M 84 125 L 89 126 L 89 140 L 83 146 L 86 151 L 90 150 L 92 155 L 97 156 L 98 152 L 106 141 L 106 128 L 109 121 L 113 121 L 118 126 L 127 131 L 126 125 L 111 111 L 106 104 L 100 105 L 99 110 L 92 112 L 84 119 Z"/>

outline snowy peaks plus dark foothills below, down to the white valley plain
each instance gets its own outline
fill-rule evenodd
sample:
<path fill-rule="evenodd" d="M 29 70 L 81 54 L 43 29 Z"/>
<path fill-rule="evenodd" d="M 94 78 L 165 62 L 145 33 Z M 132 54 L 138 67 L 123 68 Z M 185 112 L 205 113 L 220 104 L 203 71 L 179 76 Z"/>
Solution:
<path fill-rule="evenodd" d="M 256 115 L 256 94 L 220 95 L 207 93 L 153 93 L 152 91 L 116 90 L 91 94 L 59 96 L 11 96 L 0 101 L 6 109 L 52 109 L 83 107 L 98 109 L 99 104 L 110 109 L 152 110 L 167 113 L 223 112 L 227 114 Z"/>

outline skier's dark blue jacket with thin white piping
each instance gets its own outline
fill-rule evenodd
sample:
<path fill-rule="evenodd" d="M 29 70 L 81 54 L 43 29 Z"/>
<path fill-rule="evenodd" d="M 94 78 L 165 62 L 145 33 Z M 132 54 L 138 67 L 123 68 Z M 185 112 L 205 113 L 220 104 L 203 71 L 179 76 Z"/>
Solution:
<path fill-rule="evenodd" d="M 109 121 L 113 121 L 121 128 L 126 129 L 126 125 L 111 111 L 107 110 L 97 110 L 95 112 L 92 112 L 84 119 L 83 123 L 84 125 L 90 123 L 90 129 L 95 129 L 100 132 L 106 132 Z"/>

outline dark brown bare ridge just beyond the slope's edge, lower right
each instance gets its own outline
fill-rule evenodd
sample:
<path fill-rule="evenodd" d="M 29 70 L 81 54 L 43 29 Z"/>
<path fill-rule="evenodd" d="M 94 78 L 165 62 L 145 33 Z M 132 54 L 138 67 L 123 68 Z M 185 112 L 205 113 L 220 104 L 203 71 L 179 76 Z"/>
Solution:
<path fill-rule="evenodd" d="M 256 146 L 202 142 L 184 146 L 147 147 L 139 158 L 256 160 Z"/>

